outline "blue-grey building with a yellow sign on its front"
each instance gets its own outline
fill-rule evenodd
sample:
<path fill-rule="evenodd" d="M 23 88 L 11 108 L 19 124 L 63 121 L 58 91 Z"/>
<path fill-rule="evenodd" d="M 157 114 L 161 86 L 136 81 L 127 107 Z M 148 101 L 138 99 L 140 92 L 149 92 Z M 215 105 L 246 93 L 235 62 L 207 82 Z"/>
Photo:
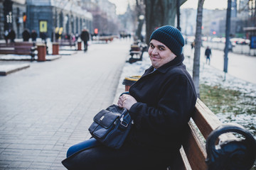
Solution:
<path fill-rule="evenodd" d="M 26 28 L 45 33 L 55 39 L 65 35 L 80 34 L 83 28 L 92 32 L 92 14 L 82 9 L 78 1 L 27 0 Z"/>

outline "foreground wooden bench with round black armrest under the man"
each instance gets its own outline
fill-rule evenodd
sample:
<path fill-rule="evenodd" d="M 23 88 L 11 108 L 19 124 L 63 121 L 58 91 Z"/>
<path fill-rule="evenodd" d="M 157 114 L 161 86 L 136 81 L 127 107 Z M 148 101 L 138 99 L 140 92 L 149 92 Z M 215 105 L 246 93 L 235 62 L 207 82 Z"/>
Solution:
<path fill-rule="evenodd" d="M 244 139 L 233 133 L 242 134 Z M 223 135 L 220 135 L 225 133 Z M 238 135 L 237 134 L 237 135 Z M 220 136 L 220 137 L 219 137 Z M 218 145 L 215 146 L 216 142 Z M 183 145 L 175 164 L 167 169 L 220 170 L 250 169 L 255 162 L 256 142 L 249 131 L 240 125 L 223 124 L 200 100 L 188 123 Z M 207 160 L 207 161 L 206 161 Z"/>

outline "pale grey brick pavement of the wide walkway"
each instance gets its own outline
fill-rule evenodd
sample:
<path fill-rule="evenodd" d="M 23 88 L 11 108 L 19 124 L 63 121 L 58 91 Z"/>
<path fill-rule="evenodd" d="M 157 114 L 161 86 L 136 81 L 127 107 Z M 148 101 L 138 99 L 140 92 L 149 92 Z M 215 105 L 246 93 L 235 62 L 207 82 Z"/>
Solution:
<path fill-rule="evenodd" d="M 68 147 L 112 104 L 131 43 L 92 44 L 0 77 L 0 169 L 65 169 Z"/>

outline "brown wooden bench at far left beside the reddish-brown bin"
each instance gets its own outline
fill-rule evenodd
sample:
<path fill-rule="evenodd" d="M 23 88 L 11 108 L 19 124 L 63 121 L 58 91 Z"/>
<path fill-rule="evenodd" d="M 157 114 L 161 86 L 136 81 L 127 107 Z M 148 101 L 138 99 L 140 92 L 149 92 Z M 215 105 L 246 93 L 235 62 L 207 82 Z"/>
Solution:
<path fill-rule="evenodd" d="M 31 60 L 33 60 L 35 51 L 36 44 L 33 42 L 0 43 L 0 54 L 31 55 Z"/>

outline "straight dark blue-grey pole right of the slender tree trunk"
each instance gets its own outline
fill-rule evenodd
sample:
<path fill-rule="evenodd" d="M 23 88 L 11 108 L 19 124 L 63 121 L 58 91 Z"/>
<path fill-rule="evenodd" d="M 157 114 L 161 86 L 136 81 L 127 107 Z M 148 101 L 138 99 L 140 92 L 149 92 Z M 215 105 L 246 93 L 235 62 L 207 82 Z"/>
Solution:
<path fill-rule="evenodd" d="M 228 0 L 226 29 L 225 29 L 225 50 L 224 50 L 224 69 L 225 74 L 228 72 L 228 50 L 230 46 L 230 16 L 231 16 L 231 0 Z M 225 81 L 225 76 L 224 76 Z"/>

